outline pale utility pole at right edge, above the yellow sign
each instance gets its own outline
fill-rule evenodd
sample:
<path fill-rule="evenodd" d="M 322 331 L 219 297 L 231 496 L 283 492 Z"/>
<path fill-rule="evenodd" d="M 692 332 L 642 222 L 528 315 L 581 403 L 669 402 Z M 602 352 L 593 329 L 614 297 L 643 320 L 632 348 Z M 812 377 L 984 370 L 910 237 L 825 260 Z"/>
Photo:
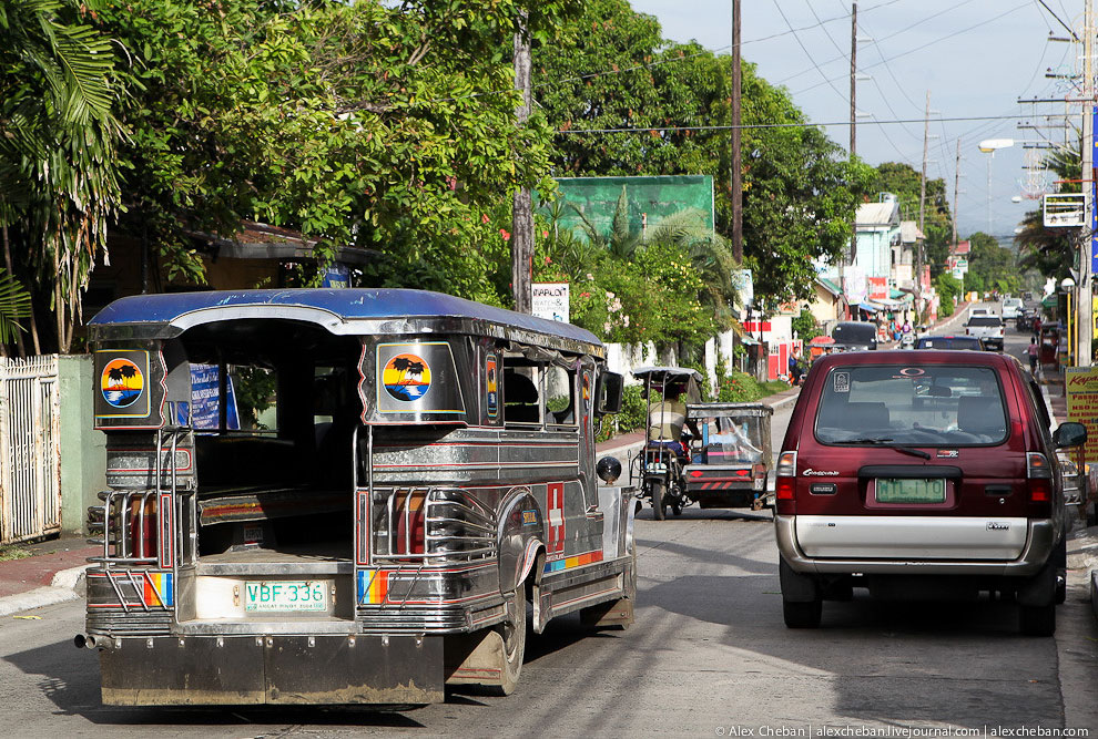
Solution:
<path fill-rule="evenodd" d="M 1076 342 L 1076 366 L 1090 367 L 1090 343 L 1094 338 L 1094 318 L 1091 305 L 1094 292 L 1091 291 L 1090 260 L 1094 244 L 1094 213 L 1095 213 L 1095 131 L 1094 131 L 1094 107 L 1095 107 L 1095 71 L 1094 71 L 1094 0 L 1086 0 L 1082 21 L 1082 238 L 1079 244 L 1079 279 L 1076 280 L 1079 288 L 1079 297 L 1075 301 L 1077 320 L 1075 325 L 1078 330 L 1078 341 Z"/>

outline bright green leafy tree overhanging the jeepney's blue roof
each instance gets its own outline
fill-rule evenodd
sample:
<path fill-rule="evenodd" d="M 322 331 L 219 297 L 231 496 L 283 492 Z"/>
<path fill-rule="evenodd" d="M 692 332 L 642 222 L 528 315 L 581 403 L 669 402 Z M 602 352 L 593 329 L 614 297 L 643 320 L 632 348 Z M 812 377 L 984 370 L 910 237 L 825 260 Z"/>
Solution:
<path fill-rule="evenodd" d="M 318 238 L 322 261 L 337 244 L 379 252 L 374 284 L 498 302 L 476 258 L 481 216 L 519 184 L 551 191 L 543 117 L 515 121 L 509 49 L 527 3 L 213 4 L 100 16 L 132 60 L 124 226 L 167 277 L 202 283 L 190 236 L 254 219 Z M 538 3 L 535 38 L 577 4 Z"/>

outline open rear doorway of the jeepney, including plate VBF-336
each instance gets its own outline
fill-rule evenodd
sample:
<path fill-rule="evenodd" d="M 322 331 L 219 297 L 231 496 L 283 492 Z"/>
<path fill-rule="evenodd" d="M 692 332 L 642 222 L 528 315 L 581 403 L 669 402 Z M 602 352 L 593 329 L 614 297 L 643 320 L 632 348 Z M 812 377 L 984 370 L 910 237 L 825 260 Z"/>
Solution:
<path fill-rule="evenodd" d="M 194 490 L 181 496 L 180 622 L 354 619 L 356 338 L 244 319 L 179 339 Z"/>

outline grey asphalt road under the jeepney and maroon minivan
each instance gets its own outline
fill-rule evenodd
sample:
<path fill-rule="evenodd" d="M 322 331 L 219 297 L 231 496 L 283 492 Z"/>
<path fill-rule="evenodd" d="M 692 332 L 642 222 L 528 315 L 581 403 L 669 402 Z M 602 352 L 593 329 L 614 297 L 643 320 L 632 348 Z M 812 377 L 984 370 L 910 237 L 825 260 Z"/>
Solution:
<path fill-rule="evenodd" d="M 1026 342 L 1008 330 L 1008 351 Z M 790 408 L 775 413 L 775 449 Z M 876 736 L 904 736 L 901 727 L 979 736 L 1029 727 L 1098 736 L 1098 626 L 1081 572 L 1070 573 L 1055 638 L 1019 636 L 1008 604 L 896 605 L 862 594 L 826 603 L 819 630 L 790 630 L 767 512 L 688 509 L 657 522 L 645 509 L 636 533 L 637 623 L 592 633 L 566 617 L 531 634 L 518 691 L 507 698 L 455 691 L 446 704 L 387 714 L 106 708 L 94 653 L 71 643 L 83 626 L 78 602 L 21 614 L 39 619 L 0 622 L 4 732 L 713 737 L 785 729 L 815 737 L 824 727 Z"/>

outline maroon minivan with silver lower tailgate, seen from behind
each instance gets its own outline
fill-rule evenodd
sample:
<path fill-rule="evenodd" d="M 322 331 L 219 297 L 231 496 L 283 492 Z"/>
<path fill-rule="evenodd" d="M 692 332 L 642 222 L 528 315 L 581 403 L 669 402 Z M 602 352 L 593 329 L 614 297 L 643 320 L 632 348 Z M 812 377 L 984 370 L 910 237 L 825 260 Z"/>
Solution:
<path fill-rule="evenodd" d="M 791 628 L 853 587 L 880 597 L 1010 593 L 1024 634 L 1051 635 L 1067 519 L 1051 421 L 1017 359 L 973 351 L 824 356 L 782 444 L 774 515 Z"/>

